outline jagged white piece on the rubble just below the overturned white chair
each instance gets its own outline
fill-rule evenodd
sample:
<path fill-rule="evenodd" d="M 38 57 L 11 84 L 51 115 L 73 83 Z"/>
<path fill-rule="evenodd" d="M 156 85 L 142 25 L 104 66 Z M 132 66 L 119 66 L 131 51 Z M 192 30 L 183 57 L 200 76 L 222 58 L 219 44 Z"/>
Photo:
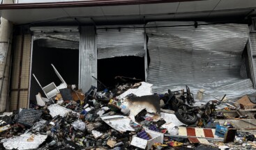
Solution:
<path fill-rule="evenodd" d="M 50 110 L 50 115 L 52 117 L 55 117 L 57 115 L 60 115 L 61 117 L 64 117 L 66 113 L 73 112 L 72 110 L 68 108 L 64 108 L 62 106 L 59 106 L 58 104 L 53 104 L 51 106 L 48 106 L 48 109 Z"/>

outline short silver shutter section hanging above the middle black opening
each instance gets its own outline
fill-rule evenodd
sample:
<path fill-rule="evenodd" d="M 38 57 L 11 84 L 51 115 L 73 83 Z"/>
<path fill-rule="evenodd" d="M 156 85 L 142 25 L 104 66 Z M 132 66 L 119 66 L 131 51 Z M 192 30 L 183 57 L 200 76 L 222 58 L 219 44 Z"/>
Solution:
<path fill-rule="evenodd" d="M 142 26 L 97 27 L 98 59 L 117 56 L 145 56 Z"/>

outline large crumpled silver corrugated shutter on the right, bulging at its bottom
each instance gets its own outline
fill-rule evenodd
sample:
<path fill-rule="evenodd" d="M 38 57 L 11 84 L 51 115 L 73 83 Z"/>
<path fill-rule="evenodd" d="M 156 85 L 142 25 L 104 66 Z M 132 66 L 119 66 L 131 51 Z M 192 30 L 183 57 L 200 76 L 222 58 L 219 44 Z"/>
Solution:
<path fill-rule="evenodd" d="M 240 76 L 241 54 L 248 40 L 246 24 L 151 22 L 146 25 L 151 63 L 147 81 L 153 92 L 204 88 L 204 99 L 236 99 L 251 94 L 250 79 Z M 203 25 L 204 24 L 204 25 Z"/>

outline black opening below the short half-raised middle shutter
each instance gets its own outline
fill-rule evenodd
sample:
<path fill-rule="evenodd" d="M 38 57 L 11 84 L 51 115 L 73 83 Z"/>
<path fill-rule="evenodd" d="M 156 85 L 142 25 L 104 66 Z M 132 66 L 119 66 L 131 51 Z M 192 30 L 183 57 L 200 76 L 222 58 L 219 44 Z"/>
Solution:
<path fill-rule="evenodd" d="M 114 86 L 116 76 L 137 78 L 145 81 L 144 57 L 122 56 L 98 60 L 98 80 L 106 86 Z"/>

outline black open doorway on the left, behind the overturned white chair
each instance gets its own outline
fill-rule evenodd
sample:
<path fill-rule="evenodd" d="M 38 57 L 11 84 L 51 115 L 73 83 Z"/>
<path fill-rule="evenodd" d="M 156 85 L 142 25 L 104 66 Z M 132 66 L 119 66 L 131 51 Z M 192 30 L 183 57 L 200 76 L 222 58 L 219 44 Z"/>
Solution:
<path fill-rule="evenodd" d="M 37 40 L 35 40 L 33 42 L 32 57 L 31 74 L 36 75 L 36 78 L 38 78 L 38 81 L 43 87 L 52 82 L 57 86 L 61 83 L 51 64 L 56 67 L 59 74 L 61 74 L 68 85 L 78 85 L 79 49 L 39 47 Z M 38 92 L 42 94 L 42 97 L 45 97 L 36 79 L 31 76 L 31 102 L 36 101 L 36 94 L 38 94 Z"/>

